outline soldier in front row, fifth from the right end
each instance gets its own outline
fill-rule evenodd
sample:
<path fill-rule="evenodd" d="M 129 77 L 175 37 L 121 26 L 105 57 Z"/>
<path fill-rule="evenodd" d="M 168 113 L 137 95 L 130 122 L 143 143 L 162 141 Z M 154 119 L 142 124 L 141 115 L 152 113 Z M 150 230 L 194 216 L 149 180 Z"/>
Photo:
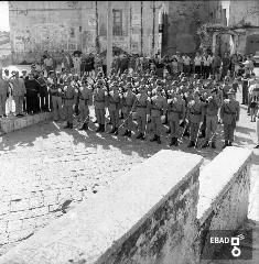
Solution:
<path fill-rule="evenodd" d="M 151 142 L 157 141 L 158 144 L 161 144 L 160 135 L 162 132 L 162 119 L 165 119 L 166 114 L 166 100 L 162 96 L 162 87 L 158 86 L 154 90 L 154 96 L 149 99 L 148 112 L 151 117 L 151 125 L 153 128 L 154 135 L 150 140 Z"/>

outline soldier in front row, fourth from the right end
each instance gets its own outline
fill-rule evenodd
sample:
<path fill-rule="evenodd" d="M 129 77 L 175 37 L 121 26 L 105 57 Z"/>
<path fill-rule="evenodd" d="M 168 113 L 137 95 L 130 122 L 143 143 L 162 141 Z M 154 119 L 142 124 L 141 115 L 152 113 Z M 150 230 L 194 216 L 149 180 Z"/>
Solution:
<path fill-rule="evenodd" d="M 172 99 L 168 100 L 169 125 L 171 131 L 170 146 L 179 145 L 180 120 L 185 117 L 185 101 L 182 99 L 180 90 L 172 91 Z"/>

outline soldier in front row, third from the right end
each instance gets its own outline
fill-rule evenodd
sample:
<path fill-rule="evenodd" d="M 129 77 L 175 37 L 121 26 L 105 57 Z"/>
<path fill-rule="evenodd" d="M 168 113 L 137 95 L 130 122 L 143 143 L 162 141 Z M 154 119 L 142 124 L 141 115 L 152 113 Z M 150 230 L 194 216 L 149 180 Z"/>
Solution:
<path fill-rule="evenodd" d="M 204 119 L 204 106 L 205 103 L 199 100 L 201 94 L 198 91 L 194 91 L 194 99 L 188 102 L 187 108 L 187 119 L 190 122 L 190 133 L 191 141 L 187 147 L 196 146 L 197 136 L 201 129 L 201 122 Z"/>

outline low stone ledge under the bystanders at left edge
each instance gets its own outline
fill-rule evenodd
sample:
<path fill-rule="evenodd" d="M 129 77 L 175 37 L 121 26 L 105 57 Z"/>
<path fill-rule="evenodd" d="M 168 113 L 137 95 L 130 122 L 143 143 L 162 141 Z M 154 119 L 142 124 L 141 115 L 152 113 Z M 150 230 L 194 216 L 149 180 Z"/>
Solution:
<path fill-rule="evenodd" d="M 24 116 L 22 118 L 9 117 L 0 119 L 0 130 L 3 133 L 9 133 L 20 130 L 42 121 L 50 120 L 53 117 L 52 112 L 42 112 L 34 116 Z"/>

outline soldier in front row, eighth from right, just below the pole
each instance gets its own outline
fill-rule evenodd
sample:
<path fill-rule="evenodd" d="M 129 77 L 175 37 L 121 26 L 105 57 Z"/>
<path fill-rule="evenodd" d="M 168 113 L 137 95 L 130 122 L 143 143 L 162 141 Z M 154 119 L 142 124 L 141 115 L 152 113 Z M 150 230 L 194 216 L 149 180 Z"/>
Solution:
<path fill-rule="evenodd" d="M 108 94 L 108 110 L 109 110 L 109 116 L 110 116 L 110 121 L 112 129 L 109 132 L 109 134 L 118 134 L 118 128 L 119 128 L 119 102 L 120 102 L 120 97 L 119 97 L 119 91 L 118 91 L 118 86 L 112 85 L 111 91 Z"/>

